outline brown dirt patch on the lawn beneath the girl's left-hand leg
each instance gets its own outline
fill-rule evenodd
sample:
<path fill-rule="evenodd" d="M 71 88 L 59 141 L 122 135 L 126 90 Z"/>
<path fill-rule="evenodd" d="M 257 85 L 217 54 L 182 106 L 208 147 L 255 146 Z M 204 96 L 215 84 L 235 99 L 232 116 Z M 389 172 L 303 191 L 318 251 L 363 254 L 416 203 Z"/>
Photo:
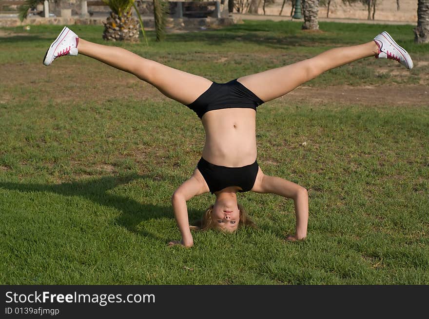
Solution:
<path fill-rule="evenodd" d="M 77 58 L 66 57 L 65 61 L 60 62 L 62 64 L 60 67 L 55 65 L 46 67 L 41 63 L 32 64 L 31 72 L 28 70 L 28 64 L 0 65 L 0 73 L 8 74 L 8 82 L 5 83 L 0 101 L 5 103 L 10 101 L 11 97 L 7 92 L 12 92 L 14 88 L 29 86 L 31 86 L 32 92 L 37 92 L 34 93 L 34 98 L 42 102 L 48 100 L 54 102 L 103 102 L 115 98 L 138 100 L 150 98 L 156 101 L 167 99 L 155 87 L 138 80 L 131 74 L 103 64 L 100 64 L 97 69 L 92 68 L 83 60 L 84 58 L 79 63 L 74 63 L 71 59 L 77 60 Z M 88 74 L 88 68 L 91 69 L 90 74 Z M 15 101 L 19 99 L 26 100 L 28 96 L 14 96 Z"/>

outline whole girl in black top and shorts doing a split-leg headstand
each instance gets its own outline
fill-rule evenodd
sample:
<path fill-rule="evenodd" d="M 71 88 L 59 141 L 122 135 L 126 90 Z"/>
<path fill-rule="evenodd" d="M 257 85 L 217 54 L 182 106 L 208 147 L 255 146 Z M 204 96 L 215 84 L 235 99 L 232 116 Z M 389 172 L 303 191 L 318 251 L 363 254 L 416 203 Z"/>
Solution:
<path fill-rule="evenodd" d="M 92 43 L 64 27 L 52 42 L 43 59 L 53 60 L 78 53 L 134 74 L 154 85 L 167 97 L 192 110 L 201 119 L 206 140 L 201 159 L 190 179 L 181 184 L 172 196 L 172 204 L 181 240 L 169 245 L 191 247 L 191 235 L 186 202 L 207 192 L 215 195 L 214 205 L 206 212 L 203 229 L 217 228 L 234 232 L 239 225 L 252 224 L 237 204 L 237 192 L 272 193 L 293 199 L 295 233 L 288 240 L 307 236 L 308 194 L 304 187 L 262 172 L 256 161 L 256 107 L 281 97 L 321 73 L 355 60 L 376 57 L 392 59 L 406 68 L 412 60 L 387 32 L 370 42 L 334 48 L 311 59 L 248 75 L 228 83 L 216 83 L 182 72 L 152 60 L 144 59 L 122 48 Z"/>

